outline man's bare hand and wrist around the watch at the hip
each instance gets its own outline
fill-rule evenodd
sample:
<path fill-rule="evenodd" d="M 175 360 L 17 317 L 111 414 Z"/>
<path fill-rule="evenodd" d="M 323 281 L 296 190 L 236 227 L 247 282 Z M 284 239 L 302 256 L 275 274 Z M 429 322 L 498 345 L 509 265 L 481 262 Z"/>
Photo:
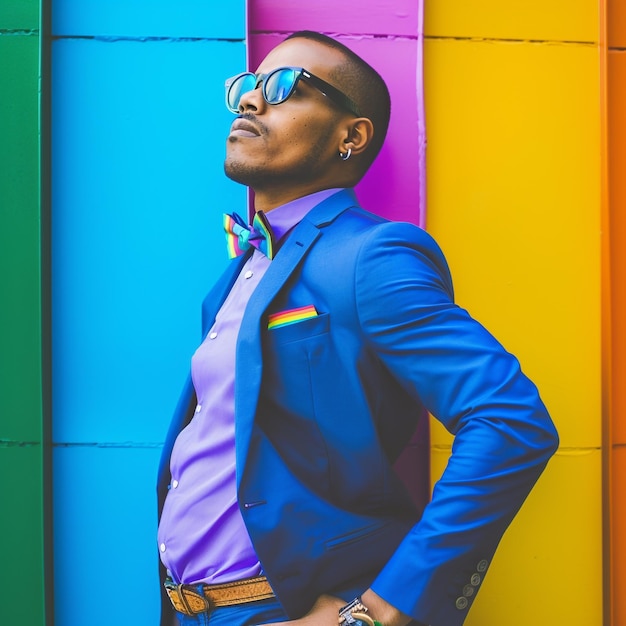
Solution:
<path fill-rule="evenodd" d="M 368 589 L 362 596 L 363 604 L 368 608 L 368 615 L 378 620 L 383 626 L 406 626 L 411 618 L 401 613 L 388 602 L 385 602 L 378 594 Z M 346 602 L 333 596 L 320 596 L 313 608 L 300 619 L 294 619 L 280 624 L 292 626 L 337 626 L 339 622 L 339 609 Z M 279 623 L 266 624 L 266 626 L 279 626 Z"/>

